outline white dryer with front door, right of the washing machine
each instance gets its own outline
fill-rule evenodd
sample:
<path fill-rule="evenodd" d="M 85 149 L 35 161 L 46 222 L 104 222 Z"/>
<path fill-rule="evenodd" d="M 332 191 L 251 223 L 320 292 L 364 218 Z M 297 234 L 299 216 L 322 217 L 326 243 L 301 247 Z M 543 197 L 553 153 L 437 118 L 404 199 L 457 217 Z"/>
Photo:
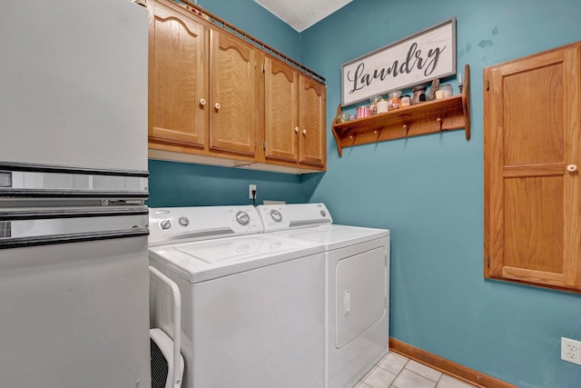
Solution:
<path fill-rule="evenodd" d="M 353 387 L 389 350 L 389 230 L 332 224 L 324 204 L 258 211 L 265 232 L 325 247 L 325 387 Z"/>

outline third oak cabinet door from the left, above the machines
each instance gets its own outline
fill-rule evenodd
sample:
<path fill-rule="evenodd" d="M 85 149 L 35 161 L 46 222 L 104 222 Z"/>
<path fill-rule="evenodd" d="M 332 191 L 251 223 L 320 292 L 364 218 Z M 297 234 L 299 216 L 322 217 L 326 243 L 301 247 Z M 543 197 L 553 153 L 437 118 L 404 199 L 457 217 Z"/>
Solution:
<path fill-rule="evenodd" d="M 267 158 L 299 161 L 299 74 L 267 58 L 264 75 L 264 153 Z"/>

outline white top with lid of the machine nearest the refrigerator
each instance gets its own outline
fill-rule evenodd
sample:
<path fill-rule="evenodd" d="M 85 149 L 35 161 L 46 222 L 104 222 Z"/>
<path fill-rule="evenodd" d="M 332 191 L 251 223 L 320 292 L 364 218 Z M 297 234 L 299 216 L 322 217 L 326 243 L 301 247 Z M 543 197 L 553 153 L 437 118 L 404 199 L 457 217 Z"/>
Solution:
<path fill-rule="evenodd" d="M 154 246 L 149 250 L 153 260 L 192 284 L 322 252 L 321 244 L 267 234 Z"/>

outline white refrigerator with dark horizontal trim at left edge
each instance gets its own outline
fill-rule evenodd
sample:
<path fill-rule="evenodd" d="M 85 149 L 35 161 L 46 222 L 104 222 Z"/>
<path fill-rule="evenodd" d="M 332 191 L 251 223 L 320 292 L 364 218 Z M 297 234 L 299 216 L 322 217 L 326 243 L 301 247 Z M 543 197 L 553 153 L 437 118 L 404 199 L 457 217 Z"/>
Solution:
<path fill-rule="evenodd" d="M 0 10 L 0 386 L 151 386 L 148 11 Z"/>

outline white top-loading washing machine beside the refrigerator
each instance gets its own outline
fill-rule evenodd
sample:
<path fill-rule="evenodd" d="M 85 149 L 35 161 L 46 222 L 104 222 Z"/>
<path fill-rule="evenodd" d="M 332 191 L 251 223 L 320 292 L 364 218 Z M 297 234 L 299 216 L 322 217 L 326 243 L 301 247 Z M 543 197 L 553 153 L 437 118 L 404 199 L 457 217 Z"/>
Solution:
<path fill-rule="evenodd" d="M 182 293 L 182 387 L 323 386 L 322 245 L 261 232 L 252 206 L 150 209 L 150 264 Z M 172 337 L 171 295 L 151 293 Z"/>

